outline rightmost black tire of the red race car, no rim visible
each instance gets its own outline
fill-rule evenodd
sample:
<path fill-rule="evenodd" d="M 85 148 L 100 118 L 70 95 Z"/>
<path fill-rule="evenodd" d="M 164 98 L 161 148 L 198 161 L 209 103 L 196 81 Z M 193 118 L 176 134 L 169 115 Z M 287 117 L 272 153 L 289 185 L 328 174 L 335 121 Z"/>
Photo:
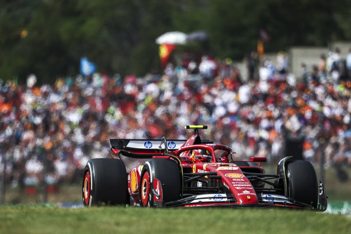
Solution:
<path fill-rule="evenodd" d="M 297 160 L 287 163 L 288 195 L 296 201 L 316 208 L 318 203 L 317 176 L 309 161 Z"/>

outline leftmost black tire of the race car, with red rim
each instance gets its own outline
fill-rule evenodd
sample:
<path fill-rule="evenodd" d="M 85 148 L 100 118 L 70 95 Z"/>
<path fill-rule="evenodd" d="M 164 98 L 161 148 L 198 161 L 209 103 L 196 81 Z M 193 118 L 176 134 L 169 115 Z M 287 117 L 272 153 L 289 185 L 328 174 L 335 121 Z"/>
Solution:
<path fill-rule="evenodd" d="M 82 187 L 84 206 L 126 204 L 127 173 L 123 161 L 112 158 L 89 160 Z"/>

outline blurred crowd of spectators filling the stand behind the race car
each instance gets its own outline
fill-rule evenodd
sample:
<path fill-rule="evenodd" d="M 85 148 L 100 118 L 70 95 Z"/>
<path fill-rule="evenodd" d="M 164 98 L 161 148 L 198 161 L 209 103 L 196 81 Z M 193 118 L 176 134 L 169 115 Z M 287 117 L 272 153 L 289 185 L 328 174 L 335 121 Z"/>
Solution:
<path fill-rule="evenodd" d="M 290 74 L 287 56 L 244 63 L 184 54 L 160 76 L 94 74 L 53 85 L 0 81 L 0 171 L 12 186 L 80 181 L 90 158 L 107 157 L 109 138 L 180 138 L 206 124 L 203 139 L 233 148 L 236 160 L 285 156 L 287 140 L 325 166 L 351 166 L 351 52 L 322 55 Z"/>

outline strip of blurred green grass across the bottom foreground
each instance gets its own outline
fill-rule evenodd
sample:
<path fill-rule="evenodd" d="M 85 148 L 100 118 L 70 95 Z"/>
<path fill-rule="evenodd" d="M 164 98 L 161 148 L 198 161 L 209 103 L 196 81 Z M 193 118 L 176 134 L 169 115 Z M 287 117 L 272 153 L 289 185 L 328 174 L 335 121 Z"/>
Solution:
<path fill-rule="evenodd" d="M 279 209 L 0 206 L 0 233 L 351 233 L 351 218 Z"/>

